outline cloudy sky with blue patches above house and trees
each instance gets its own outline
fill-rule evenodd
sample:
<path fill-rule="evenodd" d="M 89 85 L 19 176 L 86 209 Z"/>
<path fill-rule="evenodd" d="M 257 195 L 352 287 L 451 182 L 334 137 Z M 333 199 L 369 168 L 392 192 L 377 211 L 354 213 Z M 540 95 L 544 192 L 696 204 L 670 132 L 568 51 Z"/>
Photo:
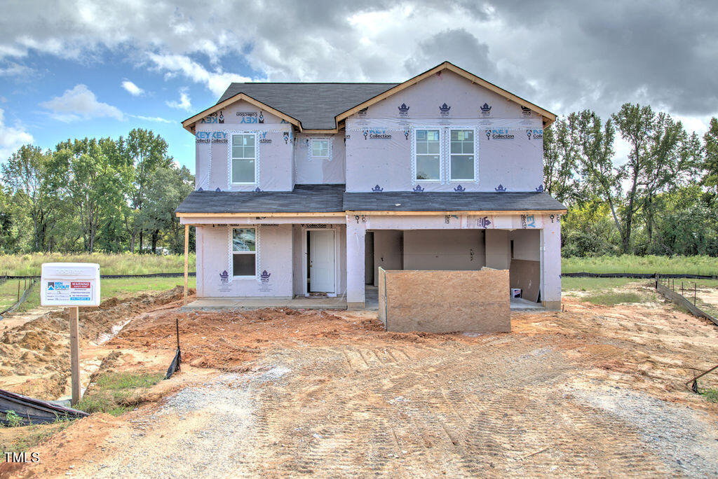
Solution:
<path fill-rule="evenodd" d="M 139 127 L 194 171 L 180 121 L 231 81 L 393 82 L 444 60 L 558 114 L 648 103 L 699 133 L 718 115 L 709 1 L 9 0 L 3 10 L 0 161 L 23 143 Z"/>

